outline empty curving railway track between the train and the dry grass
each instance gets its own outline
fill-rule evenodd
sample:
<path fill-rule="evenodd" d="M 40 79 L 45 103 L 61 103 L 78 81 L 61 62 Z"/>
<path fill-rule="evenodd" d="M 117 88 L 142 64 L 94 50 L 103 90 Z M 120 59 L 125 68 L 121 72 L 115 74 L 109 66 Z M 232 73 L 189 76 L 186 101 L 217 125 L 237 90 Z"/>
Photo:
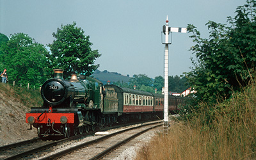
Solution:
<path fill-rule="evenodd" d="M 100 138 L 91 141 L 81 141 L 74 147 L 68 147 L 41 159 L 101 159 L 116 148 L 136 138 L 136 136 L 140 136 L 143 132 L 161 126 L 162 124 L 159 124 L 159 122 L 162 121 L 137 125 L 106 136 L 100 136 Z"/>

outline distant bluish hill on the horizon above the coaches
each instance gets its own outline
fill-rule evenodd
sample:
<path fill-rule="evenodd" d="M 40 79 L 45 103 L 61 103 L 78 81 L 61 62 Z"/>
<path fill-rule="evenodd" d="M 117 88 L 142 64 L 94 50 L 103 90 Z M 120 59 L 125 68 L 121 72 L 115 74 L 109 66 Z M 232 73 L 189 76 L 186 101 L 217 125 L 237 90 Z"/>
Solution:
<path fill-rule="evenodd" d="M 108 81 L 111 83 L 120 81 L 121 83 L 128 83 L 129 82 L 129 75 L 124 76 L 121 74 L 118 74 L 117 72 L 108 72 L 108 70 L 104 70 L 100 72 L 100 70 L 95 70 L 95 72 L 92 74 L 92 76 L 95 79 L 99 79 L 103 84 L 107 84 Z"/>

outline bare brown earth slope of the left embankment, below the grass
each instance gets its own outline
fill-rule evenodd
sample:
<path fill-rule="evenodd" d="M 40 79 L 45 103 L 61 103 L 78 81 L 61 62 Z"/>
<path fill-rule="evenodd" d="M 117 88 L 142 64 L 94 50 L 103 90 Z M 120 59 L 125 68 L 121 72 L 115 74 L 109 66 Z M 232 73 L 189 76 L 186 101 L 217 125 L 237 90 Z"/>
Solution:
<path fill-rule="evenodd" d="M 28 130 L 30 125 L 25 119 L 28 112 L 19 100 L 0 92 L 0 146 L 37 136 L 35 128 Z"/>

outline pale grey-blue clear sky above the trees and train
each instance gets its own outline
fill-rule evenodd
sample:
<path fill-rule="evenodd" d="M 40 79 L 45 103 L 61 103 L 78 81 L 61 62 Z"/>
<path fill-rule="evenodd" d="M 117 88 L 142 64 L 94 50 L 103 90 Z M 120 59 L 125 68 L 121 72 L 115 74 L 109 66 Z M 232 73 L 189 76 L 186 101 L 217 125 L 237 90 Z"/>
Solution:
<path fill-rule="evenodd" d="M 208 38 L 205 24 L 227 23 L 237 6 L 246 0 L 0 0 L 0 33 L 25 33 L 40 44 L 52 44 L 61 24 L 76 22 L 90 36 L 99 70 L 130 77 L 146 74 L 164 76 L 164 45 L 161 31 L 168 15 L 170 27 L 193 24 Z M 191 70 L 191 33 L 172 33 L 169 45 L 169 76 Z M 164 37 L 164 36 L 163 36 Z M 171 40 L 171 38 L 169 39 Z M 164 38 L 163 38 L 164 41 Z"/>

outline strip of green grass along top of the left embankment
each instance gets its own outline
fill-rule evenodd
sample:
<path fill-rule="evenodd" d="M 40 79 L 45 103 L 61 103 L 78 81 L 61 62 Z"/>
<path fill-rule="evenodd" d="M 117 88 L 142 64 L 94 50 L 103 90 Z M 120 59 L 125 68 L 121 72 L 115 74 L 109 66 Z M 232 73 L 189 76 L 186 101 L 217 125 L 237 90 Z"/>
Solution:
<path fill-rule="evenodd" d="M 43 104 L 42 97 L 40 95 L 40 90 L 28 90 L 27 88 L 22 88 L 20 86 L 12 86 L 8 83 L 0 83 L 1 93 L 6 97 L 14 97 L 17 101 L 24 104 L 28 108 L 40 107 Z"/>

